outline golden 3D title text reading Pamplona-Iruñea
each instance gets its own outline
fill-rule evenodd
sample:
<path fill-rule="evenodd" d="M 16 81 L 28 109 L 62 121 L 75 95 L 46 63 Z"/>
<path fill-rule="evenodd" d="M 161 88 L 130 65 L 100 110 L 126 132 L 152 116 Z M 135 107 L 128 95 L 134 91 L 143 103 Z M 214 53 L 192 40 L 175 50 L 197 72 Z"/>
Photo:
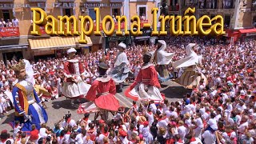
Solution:
<path fill-rule="evenodd" d="M 96 22 L 90 18 L 89 15 L 79 16 L 76 18 L 73 16 L 58 16 L 54 18 L 53 15 L 47 15 L 41 8 L 31 8 L 33 12 L 33 30 L 31 34 L 41 35 L 40 26 L 45 26 L 46 34 L 50 35 L 80 35 L 79 43 L 87 43 L 86 36 L 101 35 L 100 31 L 100 11 L 98 7 L 94 8 L 96 13 Z M 150 23 L 144 23 L 144 28 L 152 28 L 151 36 L 164 36 L 167 34 L 166 23 L 169 22 L 170 34 L 172 35 L 222 35 L 226 34 L 224 31 L 224 22 L 221 15 L 216 15 L 211 18 L 207 15 L 202 16 L 198 20 L 194 16 L 195 9 L 188 8 L 184 16 L 160 16 L 157 18 L 158 8 L 153 8 L 151 10 L 153 14 L 152 26 Z M 126 16 L 116 16 L 118 21 L 118 30 L 115 31 L 117 36 L 142 35 L 141 31 L 141 20 L 138 15 L 134 15 L 131 19 L 130 31 L 128 31 L 127 18 Z M 78 22 L 80 21 L 80 29 L 78 29 Z M 158 31 L 158 21 L 160 22 L 160 31 Z M 110 30 L 106 28 L 106 23 L 110 22 Z M 121 30 L 121 23 L 124 22 L 124 31 Z M 168 24 L 168 23 L 167 23 Z M 182 25 L 184 26 L 182 29 Z M 73 28 L 72 28 L 73 26 Z M 95 26 L 95 28 L 94 28 Z M 134 29 L 136 28 L 136 29 Z M 111 36 L 114 34 L 114 19 L 110 15 L 106 15 L 102 19 L 102 30 L 106 36 Z"/>

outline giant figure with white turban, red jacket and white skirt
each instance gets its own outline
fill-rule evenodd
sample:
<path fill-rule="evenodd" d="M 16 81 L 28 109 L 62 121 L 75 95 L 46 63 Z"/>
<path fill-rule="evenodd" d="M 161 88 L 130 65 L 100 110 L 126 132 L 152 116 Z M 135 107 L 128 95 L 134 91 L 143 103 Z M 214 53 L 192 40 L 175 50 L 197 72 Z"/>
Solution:
<path fill-rule="evenodd" d="M 74 99 L 79 99 L 84 97 L 90 85 L 82 80 L 82 76 L 87 77 L 88 73 L 86 72 L 82 62 L 75 58 L 75 53 L 77 50 L 70 48 L 67 50 L 69 59 L 64 63 L 64 75 L 65 81 L 62 86 L 62 94 L 66 98 L 71 98 L 71 104 L 74 105 Z"/>

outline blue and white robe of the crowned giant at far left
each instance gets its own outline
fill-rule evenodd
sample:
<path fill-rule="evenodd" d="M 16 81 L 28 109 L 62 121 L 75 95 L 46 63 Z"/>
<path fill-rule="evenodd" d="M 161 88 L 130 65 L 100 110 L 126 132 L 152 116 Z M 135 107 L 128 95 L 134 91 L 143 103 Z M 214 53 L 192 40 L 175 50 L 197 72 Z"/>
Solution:
<path fill-rule="evenodd" d="M 15 107 L 15 121 L 24 123 L 22 131 L 31 131 L 34 124 L 39 130 L 42 123 L 48 121 L 46 110 L 42 108 L 41 100 L 31 82 L 20 81 L 14 85 L 12 91 Z"/>

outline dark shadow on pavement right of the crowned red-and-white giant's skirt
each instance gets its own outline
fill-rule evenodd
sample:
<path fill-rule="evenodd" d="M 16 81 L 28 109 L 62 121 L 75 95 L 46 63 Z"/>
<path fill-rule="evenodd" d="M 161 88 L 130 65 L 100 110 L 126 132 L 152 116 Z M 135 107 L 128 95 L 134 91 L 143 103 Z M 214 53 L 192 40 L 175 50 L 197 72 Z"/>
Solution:
<path fill-rule="evenodd" d="M 191 93 L 191 91 L 183 86 L 169 86 L 165 90 L 161 90 L 163 94 L 166 94 L 166 98 L 183 98 L 186 93 Z"/>

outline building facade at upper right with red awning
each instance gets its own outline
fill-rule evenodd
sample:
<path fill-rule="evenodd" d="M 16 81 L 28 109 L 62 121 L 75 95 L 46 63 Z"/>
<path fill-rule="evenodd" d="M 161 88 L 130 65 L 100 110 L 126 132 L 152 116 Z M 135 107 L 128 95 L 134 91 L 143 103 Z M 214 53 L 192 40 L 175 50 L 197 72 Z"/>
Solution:
<path fill-rule="evenodd" d="M 168 14 L 183 15 L 188 7 L 195 7 L 197 18 L 202 15 L 222 15 L 226 37 L 232 42 L 243 41 L 245 36 L 256 35 L 255 0 L 163 0 L 168 6 Z"/>

